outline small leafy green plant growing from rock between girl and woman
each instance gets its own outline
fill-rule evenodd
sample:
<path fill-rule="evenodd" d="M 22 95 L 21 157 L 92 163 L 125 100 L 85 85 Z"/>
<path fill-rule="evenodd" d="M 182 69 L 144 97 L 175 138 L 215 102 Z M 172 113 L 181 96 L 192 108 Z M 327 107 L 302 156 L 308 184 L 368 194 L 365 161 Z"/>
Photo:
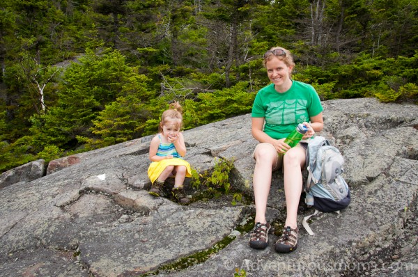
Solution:
<path fill-rule="evenodd" d="M 192 169 L 192 186 L 199 193 L 194 198 L 208 199 L 228 194 L 231 189 L 229 175 L 233 170 L 233 160 L 216 159 L 212 171 L 198 173 Z"/>

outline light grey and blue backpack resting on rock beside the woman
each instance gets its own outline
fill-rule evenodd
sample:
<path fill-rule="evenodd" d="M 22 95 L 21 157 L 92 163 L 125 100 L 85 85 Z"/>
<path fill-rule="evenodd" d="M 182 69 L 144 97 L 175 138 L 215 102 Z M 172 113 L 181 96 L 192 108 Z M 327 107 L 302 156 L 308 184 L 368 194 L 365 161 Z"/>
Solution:
<path fill-rule="evenodd" d="M 315 213 L 306 216 L 302 225 L 309 235 L 314 235 L 307 220 L 318 212 L 337 212 L 350 204 L 350 189 L 343 173 L 344 159 L 341 152 L 330 145 L 323 136 L 309 140 L 306 166 L 307 184 L 304 188 L 305 203 L 315 208 Z"/>

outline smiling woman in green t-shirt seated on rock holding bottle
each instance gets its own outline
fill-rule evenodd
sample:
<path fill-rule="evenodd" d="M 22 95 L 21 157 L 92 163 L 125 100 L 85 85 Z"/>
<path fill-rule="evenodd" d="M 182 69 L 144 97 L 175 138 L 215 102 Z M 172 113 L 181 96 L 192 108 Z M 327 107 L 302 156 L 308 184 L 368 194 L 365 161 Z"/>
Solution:
<path fill-rule="evenodd" d="M 256 203 L 254 230 L 249 239 L 252 248 L 268 246 L 270 224 L 265 219 L 272 171 L 284 169 L 286 222 L 275 250 L 289 253 L 297 248 L 297 207 L 302 193 L 302 168 L 309 139 L 323 129 L 323 107 L 316 90 L 309 84 L 291 79 L 295 66 L 291 52 L 273 47 L 263 56 L 272 84 L 258 91 L 251 113 L 251 133 L 260 143 L 254 150 L 253 188 Z M 308 127 L 303 140 L 291 148 L 284 143 L 297 124 Z"/>

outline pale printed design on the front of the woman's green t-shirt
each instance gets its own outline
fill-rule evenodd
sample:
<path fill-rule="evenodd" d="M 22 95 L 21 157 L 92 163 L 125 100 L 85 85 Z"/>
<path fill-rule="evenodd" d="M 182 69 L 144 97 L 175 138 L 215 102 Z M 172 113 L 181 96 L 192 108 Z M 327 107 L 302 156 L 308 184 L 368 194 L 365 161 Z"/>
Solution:
<path fill-rule="evenodd" d="M 288 125 L 307 122 L 307 100 L 285 100 L 270 102 L 265 112 L 265 123 L 268 125 Z"/>

